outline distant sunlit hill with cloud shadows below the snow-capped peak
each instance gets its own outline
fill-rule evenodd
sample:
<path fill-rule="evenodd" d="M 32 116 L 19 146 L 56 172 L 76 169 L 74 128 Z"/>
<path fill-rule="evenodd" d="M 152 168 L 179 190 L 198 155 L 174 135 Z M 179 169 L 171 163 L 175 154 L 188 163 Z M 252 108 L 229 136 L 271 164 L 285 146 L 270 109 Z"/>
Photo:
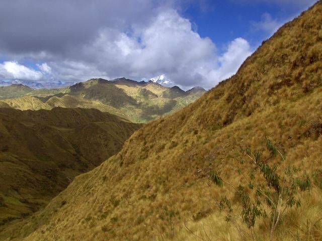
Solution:
<path fill-rule="evenodd" d="M 64 98 L 65 95 L 69 95 L 68 98 Z M 132 122 L 145 123 L 181 109 L 199 98 L 200 92 L 186 92 L 179 87 L 169 88 L 152 81 L 146 83 L 119 78 L 77 83 L 70 86 L 65 95 L 56 95 L 43 101 L 62 107 L 72 107 L 77 102 L 81 107 L 92 106 Z"/>

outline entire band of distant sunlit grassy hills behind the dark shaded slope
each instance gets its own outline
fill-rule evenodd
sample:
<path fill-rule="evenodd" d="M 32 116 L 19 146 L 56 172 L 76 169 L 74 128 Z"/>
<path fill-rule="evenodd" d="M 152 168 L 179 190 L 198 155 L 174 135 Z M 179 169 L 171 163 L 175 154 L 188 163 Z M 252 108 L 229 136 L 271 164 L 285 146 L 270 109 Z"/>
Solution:
<path fill-rule="evenodd" d="M 26 87 L 19 86 L 22 89 Z M 3 88 L 4 92 L 6 89 L 11 93 L 13 85 Z M 28 91 L 21 90 L 16 95 L 7 94 L 7 98 L 10 99 L 3 101 L 13 108 L 22 110 L 53 107 L 97 108 L 125 117 L 135 123 L 145 123 L 173 113 L 195 101 L 205 92 L 202 88 L 198 91 L 193 89 L 186 92 L 179 87 L 168 88 L 152 81 L 136 82 L 125 78 L 112 81 L 90 79 L 62 89 L 26 88 Z M 31 98 L 31 96 L 35 97 Z"/>

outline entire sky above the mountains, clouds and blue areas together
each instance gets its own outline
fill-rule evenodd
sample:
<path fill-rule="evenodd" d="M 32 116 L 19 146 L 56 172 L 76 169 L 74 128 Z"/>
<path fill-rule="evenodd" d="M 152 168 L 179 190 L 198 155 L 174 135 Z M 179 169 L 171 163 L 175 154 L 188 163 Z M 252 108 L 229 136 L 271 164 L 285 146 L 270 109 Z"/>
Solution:
<path fill-rule="evenodd" d="M 212 88 L 315 0 L 1 0 L 0 84 Z"/>

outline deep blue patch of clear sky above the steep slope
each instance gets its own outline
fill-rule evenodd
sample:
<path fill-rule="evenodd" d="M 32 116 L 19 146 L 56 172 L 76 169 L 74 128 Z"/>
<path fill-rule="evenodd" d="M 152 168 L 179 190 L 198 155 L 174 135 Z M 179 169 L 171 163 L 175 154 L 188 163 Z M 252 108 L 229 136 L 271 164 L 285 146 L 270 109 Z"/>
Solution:
<path fill-rule="evenodd" d="M 296 0 L 294 3 L 291 1 L 280 1 L 280 3 L 207 1 L 204 7 L 191 5 L 183 16 L 196 24 L 197 32 L 201 37 L 211 38 L 219 50 L 223 51 L 231 39 L 238 37 L 247 39 L 251 46 L 258 47 L 272 34 L 269 30 L 256 27 L 256 24 L 263 22 L 265 15 L 270 15 L 271 22 L 275 22 L 275 26 L 278 27 L 298 16 L 313 3 L 314 1 L 310 0 L 299 1 L 299 3 L 296 3 Z"/>

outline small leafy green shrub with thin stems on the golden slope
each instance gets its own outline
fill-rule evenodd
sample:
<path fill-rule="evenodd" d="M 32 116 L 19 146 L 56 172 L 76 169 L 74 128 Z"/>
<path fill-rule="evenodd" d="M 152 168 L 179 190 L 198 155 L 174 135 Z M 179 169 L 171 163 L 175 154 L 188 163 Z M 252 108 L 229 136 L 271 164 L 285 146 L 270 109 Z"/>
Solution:
<path fill-rule="evenodd" d="M 301 201 L 297 197 L 298 191 L 306 191 L 311 187 L 307 175 L 303 175 L 302 178 L 295 176 L 298 169 L 294 167 L 287 166 L 284 168 L 284 174 L 279 174 L 277 171 L 281 162 L 274 163 L 273 161 L 278 156 L 282 162 L 285 161 L 285 158 L 269 139 L 266 139 L 266 147 L 270 152 L 270 155 L 266 158 L 263 158 L 261 152 L 254 153 L 249 148 L 241 149 L 241 152 L 250 159 L 251 164 L 248 188 L 243 185 L 235 187 L 223 180 L 215 171 L 210 172 L 210 178 L 216 185 L 222 187 L 225 183 L 235 190 L 242 208 L 241 218 L 250 229 L 254 240 L 256 220 L 259 217 L 267 218 L 268 213 L 270 213 L 269 238 L 274 240 L 276 227 L 287 208 L 301 205 Z M 257 172 L 260 172 L 260 175 L 264 177 L 263 182 L 255 178 Z M 253 195 L 249 195 L 247 189 L 251 190 Z M 219 203 L 219 208 L 220 210 L 227 210 L 226 220 L 229 221 L 233 212 L 230 200 L 226 197 L 223 198 Z"/>

